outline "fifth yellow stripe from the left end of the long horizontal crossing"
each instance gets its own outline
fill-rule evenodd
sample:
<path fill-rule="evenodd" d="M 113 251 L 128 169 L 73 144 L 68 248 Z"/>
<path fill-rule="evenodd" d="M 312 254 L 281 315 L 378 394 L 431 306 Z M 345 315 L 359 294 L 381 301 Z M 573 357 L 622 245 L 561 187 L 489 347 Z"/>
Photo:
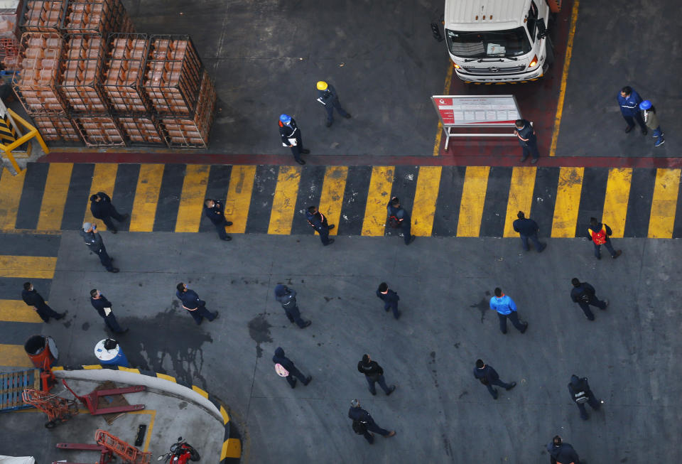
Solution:
<path fill-rule="evenodd" d="M 175 232 L 199 232 L 210 168 L 207 164 L 187 165 Z"/>

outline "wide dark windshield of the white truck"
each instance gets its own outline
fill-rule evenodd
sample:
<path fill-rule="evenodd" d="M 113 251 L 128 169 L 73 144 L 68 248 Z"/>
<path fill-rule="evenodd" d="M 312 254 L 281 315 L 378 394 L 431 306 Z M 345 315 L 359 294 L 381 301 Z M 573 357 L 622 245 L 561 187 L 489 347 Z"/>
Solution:
<path fill-rule="evenodd" d="M 525 55 L 531 51 L 523 27 L 509 31 L 458 32 L 445 29 L 450 53 L 462 58 Z"/>

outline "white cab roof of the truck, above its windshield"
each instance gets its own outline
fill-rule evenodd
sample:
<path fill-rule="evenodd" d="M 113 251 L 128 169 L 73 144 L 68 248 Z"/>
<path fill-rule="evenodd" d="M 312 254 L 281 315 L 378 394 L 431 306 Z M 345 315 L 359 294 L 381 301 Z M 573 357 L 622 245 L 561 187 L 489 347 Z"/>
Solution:
<path fill-rule="evenodd" d="M 536 5 L 544 0 L 536 0 Z M 524 23 L 531 0 L 445 0 L 445 28 L 499 31 Z"/>

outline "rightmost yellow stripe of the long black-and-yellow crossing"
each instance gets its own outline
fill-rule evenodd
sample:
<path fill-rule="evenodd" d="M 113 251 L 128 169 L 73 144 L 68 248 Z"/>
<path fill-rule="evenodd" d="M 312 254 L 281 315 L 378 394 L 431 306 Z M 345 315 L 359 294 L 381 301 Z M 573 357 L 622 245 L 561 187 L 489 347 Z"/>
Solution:
<path fill-rule="evenodd" d="M 656 169 L 654 200 L 651 201 L 649 234 L 647 234 L 650 239 L 673 238 L 680 173 L 680 169 Z"/>

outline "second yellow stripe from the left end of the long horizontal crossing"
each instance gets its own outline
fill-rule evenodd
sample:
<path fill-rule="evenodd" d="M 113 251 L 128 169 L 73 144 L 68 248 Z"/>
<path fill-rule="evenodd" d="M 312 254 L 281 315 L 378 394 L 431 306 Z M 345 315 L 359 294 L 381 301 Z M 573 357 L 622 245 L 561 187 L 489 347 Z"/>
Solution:
<path fill-rule="evenodd" d="M 71 183 L 73 163 L 50 163 L 48 178 L 43 190 L 43 203 L 40 203 L 38 230 L 61 230 L 66 195 Z"/>

